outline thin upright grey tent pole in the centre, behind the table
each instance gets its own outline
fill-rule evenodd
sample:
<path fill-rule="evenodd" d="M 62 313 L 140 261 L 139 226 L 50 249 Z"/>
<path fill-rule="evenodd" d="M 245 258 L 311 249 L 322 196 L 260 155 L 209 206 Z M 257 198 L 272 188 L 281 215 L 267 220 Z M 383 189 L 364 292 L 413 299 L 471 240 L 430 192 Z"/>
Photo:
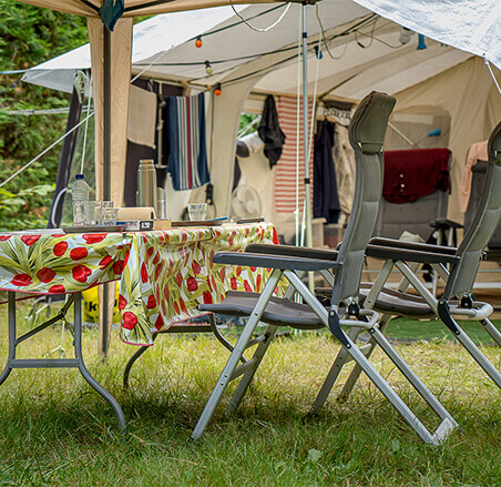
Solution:
<path fill-rule="evenodd" d="M 305 222 L 306 222 L 306 246 L 311 246 L 311 193 L 309 177 L 309 130 L 308 130 L 308 49 L 306 32 L 306 2 L 303 2 L 303 141 L 305 158 Z"/>

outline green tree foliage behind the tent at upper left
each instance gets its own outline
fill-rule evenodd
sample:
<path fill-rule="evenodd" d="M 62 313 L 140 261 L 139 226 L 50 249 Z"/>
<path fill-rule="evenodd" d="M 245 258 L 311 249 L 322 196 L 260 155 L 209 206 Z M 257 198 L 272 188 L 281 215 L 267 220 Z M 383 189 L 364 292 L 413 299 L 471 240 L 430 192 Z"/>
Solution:
<path fill-rule="evenodd" d="M 25 70 L 88 42 L 85 19 L 0 0 L 0 71 Z M 0 74 L 0 182 L 58 140 L 65 114 L 17 115 L 13 110 L 69 105 L 69 94 Z M 47 225 L 61 145 L 0 187 L 0 230 Z"/>

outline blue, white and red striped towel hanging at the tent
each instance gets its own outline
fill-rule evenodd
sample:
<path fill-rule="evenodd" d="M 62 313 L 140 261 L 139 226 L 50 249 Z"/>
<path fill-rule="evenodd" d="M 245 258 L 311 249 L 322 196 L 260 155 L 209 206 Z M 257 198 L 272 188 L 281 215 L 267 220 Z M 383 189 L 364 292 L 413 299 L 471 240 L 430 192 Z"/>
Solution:
<path fill-rule="evenodd" d="M 166 125 L 171 151 L 167 171 L 174 190 L 191 190 L 208 183 L 204 93 L 168 97 Z"/>

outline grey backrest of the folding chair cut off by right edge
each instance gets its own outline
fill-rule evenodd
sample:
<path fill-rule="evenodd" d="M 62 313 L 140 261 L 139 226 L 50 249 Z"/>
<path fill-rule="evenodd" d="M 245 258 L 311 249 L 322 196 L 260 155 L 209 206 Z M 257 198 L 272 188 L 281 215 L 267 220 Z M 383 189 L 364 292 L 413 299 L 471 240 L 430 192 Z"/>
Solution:
<path fill-rule="evenodd" d="M 482 195 L 470 227 L 457 251 L 460 257 L 446 284 L 443 298 L 469 293 L 473 287 L 482 252 L 494 233 L 501 215 L 501 122 L 489 138 L 489 160 Z"/>

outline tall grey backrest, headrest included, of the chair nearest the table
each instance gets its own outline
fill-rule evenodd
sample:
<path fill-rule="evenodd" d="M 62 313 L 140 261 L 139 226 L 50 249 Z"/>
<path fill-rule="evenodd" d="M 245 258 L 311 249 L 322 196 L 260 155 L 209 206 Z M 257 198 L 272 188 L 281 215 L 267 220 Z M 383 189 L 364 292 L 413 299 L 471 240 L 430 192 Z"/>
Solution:
<path fill-rule="evenodd" d="M 372 234 L 382 190 L 382 144 L 395 98 L 371 92 L 358 105 L 349 126 L 355 151 L 355 196 L 348 226 L 339 247 L 333 304 L 358 292 L 367 243 Z"/>

